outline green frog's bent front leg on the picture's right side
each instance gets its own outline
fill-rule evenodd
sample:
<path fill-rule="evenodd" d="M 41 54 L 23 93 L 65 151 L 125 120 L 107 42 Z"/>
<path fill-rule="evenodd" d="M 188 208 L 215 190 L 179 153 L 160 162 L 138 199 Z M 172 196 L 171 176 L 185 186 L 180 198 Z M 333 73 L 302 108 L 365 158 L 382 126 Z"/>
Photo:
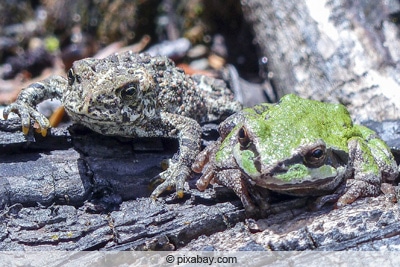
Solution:
<path fill-rule="evenodd" d="M 381 170 L 367 143 L 354 137 L 349 140 L 348 147 L 348 167 L 353 170 L 354 179 L 347 179 L 345 193 L 337 201 L 337 207 L 353 203 L 360 197 L 377 196 L 380 192 Z"/>

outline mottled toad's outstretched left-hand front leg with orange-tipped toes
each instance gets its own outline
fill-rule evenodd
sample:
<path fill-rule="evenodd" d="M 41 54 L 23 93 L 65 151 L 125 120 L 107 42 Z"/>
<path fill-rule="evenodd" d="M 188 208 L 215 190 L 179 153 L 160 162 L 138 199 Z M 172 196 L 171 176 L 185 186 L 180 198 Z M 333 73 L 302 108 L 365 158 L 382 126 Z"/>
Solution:
<path fill-rule="evenodd" d="M 36 82 L 23 89 L 17 100 L 3 110 L 3 117 L 13 112 L 21 117 L 22 132 L 28 134 L 31 118 L 40 126 L 41 133 L 46 136 L 50 127 L 48 119 L 36 110 L 36 105 L 46 99 L 61 98 L 62 90 L 67 86 L 67 80 L 60 76 L 52 76 L 41 82 Z"/>

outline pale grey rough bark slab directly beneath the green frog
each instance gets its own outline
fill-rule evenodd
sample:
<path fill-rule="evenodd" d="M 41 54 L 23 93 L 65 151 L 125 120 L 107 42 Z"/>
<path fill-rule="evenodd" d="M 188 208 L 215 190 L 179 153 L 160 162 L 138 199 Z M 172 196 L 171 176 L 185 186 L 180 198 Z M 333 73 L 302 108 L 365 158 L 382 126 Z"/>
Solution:
<path fill-rule="evenodd" d="M 182 250 L 202 250 L 212 244 L 214 250 L 398 250 L 400 211 L 384 197 L 361 199 L 340 210 L 305 212 L 292 210 L 199 238 Z M 254 231 L 254 230 L 253 230 Z M 230 240 L 230 241 L 228 241 Z M 247 240 L 246 246 L 243 241 Z"/>

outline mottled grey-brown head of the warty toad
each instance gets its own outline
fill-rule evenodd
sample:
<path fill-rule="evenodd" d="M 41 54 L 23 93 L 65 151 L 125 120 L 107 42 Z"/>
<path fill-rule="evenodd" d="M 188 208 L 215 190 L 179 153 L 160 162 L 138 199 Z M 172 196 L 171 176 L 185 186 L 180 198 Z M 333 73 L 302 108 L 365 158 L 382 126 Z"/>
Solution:
<path fill-rule="evenodd" d="M 129 53 L 74 62 L 63 93 L 66 110 L 98 124 L 130 124 L 154 116 L 157 70 L 151 66 L 146 55 Z"/>

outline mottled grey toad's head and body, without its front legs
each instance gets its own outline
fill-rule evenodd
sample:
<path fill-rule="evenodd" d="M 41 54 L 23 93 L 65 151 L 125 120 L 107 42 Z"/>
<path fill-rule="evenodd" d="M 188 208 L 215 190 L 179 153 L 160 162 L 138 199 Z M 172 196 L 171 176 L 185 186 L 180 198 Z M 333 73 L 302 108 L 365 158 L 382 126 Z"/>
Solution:
<path fill-rule="evenodd" d="M 131 135 L 122 125 L 143 128 L 150 123 L 157 130 L 161 111 L 206 122 L 241 109 L 223 81 L 187 76 L 161 56 L 127 52 L 84 59 L 74 63 L 68 78 L 62 102 L 69 115 L 110 135 Z"/>

